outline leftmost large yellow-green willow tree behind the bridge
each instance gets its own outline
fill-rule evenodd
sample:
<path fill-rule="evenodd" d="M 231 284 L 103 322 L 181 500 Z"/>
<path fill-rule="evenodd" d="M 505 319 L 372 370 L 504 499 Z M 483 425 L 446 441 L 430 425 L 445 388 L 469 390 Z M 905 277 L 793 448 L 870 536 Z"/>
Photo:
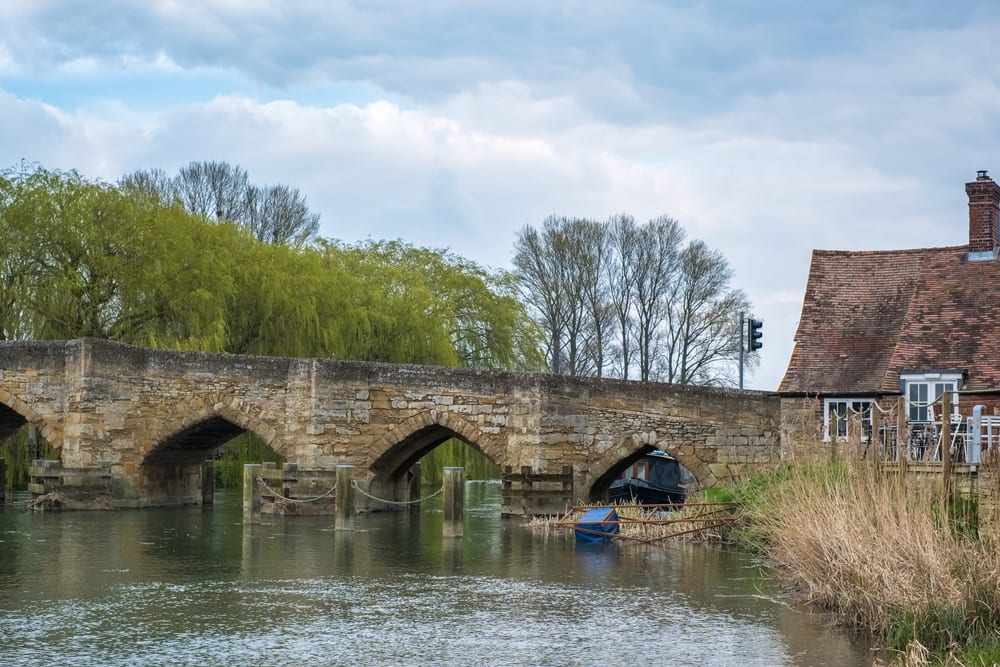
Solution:
<path fill-rule="evenodd" d="M 19 336 L 219 348 L 227 230 L 76 172 L 5 178 L 0 226 L 17 274 L 5 300 L 16 299 Z"/>

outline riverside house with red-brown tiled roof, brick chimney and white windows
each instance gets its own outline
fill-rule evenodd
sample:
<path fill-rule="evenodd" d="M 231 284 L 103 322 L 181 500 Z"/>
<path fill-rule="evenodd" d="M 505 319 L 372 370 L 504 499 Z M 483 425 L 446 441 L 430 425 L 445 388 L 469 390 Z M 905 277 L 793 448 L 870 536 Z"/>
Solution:
<path fill-rule="evenodd" d="M 940 423 L 945 390 L 955 392 L 952 422 L 967 433 L 980 432 L 980 413 L 1000 411 L 1000 186 L 981 171 L 965 191 L 966 245 L 813 251 L 778 387 L 787 433 L 822 417 L 824 439 L 860 425 L 867 442 L 872 404 L 895 405 L 899 396 L 911 434 L 920 433 Z M 975 406 L 983 407 L 973 424 Z"/>

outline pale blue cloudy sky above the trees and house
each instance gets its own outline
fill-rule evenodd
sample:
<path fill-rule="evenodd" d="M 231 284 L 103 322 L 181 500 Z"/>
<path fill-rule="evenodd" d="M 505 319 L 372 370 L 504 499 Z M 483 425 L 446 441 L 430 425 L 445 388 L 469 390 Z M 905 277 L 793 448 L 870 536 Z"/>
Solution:
<path fill-rule="evenodd" d="M 227 161 L 324 237 L 497 269 L 549 215 L 669 215 L 728 259 L 774 390 L 813 249 L 968 241 L 998 34 L 979 0 L 3 0 L 0 169 Z"/>

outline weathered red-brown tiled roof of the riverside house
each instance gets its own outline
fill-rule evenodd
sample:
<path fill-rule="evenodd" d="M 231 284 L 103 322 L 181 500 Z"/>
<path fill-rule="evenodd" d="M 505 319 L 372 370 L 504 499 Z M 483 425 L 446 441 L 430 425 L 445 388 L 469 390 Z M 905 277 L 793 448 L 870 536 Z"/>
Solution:
<path fill-rule="evenodd" d="M 1000 260 L 967 251 L 814 251 L 778 391 L 897 393 L 900 372 L 924 370 L 1000 388 Z"/>

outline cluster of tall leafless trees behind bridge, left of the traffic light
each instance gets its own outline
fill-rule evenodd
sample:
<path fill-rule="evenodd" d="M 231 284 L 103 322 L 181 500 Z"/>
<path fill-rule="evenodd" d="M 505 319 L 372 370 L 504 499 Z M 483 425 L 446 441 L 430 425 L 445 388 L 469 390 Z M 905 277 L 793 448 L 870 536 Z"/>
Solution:
<path fill-rule="evenodd" d="M 725 257 L 660 216 L 637 225 L 550 216 L 521 230 L 515 275 L 547 332 L 555 373 L 674 383 L 732 384 L 738 313 Z M 751 363 L 756 362 L 752 360 Z"/>

